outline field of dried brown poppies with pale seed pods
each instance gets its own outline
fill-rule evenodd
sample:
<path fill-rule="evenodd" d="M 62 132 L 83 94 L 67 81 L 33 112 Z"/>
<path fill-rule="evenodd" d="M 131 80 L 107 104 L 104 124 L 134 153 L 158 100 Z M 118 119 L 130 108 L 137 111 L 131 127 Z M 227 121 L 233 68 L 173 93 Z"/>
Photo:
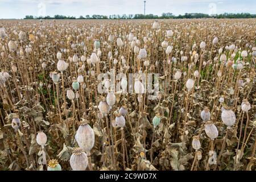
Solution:
<path fill-rule="evenodd" d="M 255 33 L 0 20 L 0 170 L 255 170 Z"/>

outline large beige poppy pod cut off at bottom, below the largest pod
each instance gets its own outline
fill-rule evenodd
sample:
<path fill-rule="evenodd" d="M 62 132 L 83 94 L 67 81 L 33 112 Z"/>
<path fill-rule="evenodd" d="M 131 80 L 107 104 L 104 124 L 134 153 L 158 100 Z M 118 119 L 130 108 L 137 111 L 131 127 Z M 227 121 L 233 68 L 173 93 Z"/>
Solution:
<path fill-rule="evenodd" d="M 69 164 L 73 171 L 85 171 L 88 165 L 88 158 L 85 152 L 81 148 L 74 148 Z"/>

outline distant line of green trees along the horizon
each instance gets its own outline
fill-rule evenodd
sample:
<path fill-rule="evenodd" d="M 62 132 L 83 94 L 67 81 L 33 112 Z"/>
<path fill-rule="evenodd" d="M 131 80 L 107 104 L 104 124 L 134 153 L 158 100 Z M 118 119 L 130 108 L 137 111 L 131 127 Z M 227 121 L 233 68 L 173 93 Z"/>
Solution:
<path fill-rule="evenodd" d="M 203 13 L 185 13 L 184 15 L 174 15 L 172 13 L 162 13 L 162 15 L 153 15 L 153 14 L 123 14 L 123 15 L 85 15 L 79 16 L 76 18 L 75 16 L 63 16 L 63 15 L 55 15 L 51 16 L 32 16 L 27 15 L 24 19 L 183 19 L 183 18 L 256 18 L 256 14 L 250 13 L 224 13 L 224 14 L 216 14 L 216 15 L 208 15 Z"/>

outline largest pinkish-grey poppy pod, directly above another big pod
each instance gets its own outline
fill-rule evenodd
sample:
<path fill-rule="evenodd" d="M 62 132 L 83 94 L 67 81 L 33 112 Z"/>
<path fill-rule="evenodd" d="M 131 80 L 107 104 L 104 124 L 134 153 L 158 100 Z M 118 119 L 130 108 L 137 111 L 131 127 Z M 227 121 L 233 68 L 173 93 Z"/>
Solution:
<path fill-rule="evenodd" d="M 81 122 L 79 128 L 76 131 L 76 142 L 79 144 L 79 147 L 85 152 L 89 152 L 95 141 L 95 135 L 92 127 L 86 122 Z"/>

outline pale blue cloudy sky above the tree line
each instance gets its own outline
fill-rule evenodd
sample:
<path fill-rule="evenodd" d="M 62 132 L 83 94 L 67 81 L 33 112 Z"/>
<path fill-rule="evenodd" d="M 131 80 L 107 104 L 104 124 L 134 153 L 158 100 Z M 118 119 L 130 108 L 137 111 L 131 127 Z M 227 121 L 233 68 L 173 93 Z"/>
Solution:
<path fill-rule="evenodd" d="M 0 0 L 0 19 L 21 19 L 26 15 L 65 16 L 143 14 L 143 0 Z M 146 0 L 146 14 L 251 13 L 255 0 Z"/>

